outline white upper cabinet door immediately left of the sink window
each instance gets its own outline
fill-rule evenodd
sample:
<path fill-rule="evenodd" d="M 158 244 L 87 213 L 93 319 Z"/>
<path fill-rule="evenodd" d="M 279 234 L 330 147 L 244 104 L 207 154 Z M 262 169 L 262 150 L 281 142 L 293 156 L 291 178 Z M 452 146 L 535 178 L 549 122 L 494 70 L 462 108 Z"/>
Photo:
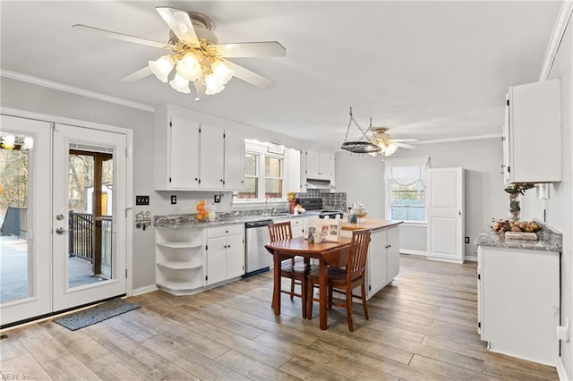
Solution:
<path fill-rule="evenodd" d="M 225 131 L 225 184 L 226 190 L 244 188 L 244 136 Z"/>

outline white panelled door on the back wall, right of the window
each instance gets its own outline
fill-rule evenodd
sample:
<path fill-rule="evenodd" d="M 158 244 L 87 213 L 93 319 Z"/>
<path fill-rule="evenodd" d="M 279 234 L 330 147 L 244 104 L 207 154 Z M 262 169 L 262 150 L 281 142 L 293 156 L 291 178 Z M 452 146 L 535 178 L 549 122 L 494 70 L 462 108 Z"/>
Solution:
<path fill-rule="evenodd" d="M 428 258 L 464 262 L 464 170 L 428 172 Z"/>

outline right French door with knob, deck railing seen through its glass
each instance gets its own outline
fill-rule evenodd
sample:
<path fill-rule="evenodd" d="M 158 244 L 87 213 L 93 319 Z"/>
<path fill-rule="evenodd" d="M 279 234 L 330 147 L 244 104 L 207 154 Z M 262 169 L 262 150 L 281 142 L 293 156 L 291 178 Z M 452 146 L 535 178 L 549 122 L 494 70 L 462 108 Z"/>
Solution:
<path fill-rule="evenodd" d="M 53 309 L 126 293 L 122 133 L 56 124 L 53 154 Z"/>

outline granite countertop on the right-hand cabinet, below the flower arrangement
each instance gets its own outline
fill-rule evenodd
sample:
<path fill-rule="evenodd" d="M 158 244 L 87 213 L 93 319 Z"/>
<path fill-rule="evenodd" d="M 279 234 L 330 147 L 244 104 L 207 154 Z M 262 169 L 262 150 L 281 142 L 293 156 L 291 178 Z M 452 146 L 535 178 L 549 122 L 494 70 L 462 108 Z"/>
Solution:
<path fill-rule="evenodd" d="M 475 244 L 494 248 L 541 250 L 560 252 L 562 249 L 563 234 L 543 225 L 537 232 L 537 241 L 506 239 L 504 233 L 484 232 L 475 238 Z"/>

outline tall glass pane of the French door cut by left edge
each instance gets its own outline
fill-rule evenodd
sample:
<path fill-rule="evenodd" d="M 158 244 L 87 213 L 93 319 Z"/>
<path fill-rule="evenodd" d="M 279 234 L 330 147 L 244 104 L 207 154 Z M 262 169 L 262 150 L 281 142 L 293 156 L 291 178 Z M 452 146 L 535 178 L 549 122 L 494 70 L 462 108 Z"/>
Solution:
<path fill-rule="evenodd" d="M 32 296 L 28 174 L 33 140 L 3 134 L 0 147 L 0 303 L 4 303 Z"/>

